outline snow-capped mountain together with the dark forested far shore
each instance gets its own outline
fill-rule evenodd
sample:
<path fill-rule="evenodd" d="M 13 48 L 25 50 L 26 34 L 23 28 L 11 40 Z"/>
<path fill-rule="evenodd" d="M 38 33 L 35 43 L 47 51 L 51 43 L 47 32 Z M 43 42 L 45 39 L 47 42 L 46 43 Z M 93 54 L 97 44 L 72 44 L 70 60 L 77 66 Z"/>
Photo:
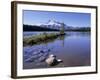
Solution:
<path fill-rule="evenodd" d="M 73 27 L 63 22 L 48 20 L 40 25 L 23 25 L 23 31 L 60 31 L 64 27 L 65 31 L 90 31 L 90 27 Z"/>

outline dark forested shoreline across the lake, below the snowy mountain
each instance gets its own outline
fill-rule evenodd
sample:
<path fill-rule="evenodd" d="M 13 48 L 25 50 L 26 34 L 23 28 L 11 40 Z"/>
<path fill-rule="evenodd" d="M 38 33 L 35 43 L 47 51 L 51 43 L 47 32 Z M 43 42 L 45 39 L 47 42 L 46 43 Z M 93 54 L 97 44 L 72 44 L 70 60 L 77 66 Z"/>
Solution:
<path fill-rule="evenodd" d="M 64 29 L 64 31 L 90 31 L 90 27 L 70 27 Z M 48 27 L 41 27 L 36 25 L 23 25 L 23 31 L 60 31 L 59 29 L 53 29 Z"/>

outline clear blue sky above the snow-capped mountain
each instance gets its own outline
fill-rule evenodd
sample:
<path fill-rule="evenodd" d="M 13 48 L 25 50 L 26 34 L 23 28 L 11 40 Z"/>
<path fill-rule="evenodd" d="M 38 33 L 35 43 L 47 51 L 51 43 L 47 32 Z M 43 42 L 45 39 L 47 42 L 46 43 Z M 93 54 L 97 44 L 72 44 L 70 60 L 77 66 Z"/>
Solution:
<path fill-rule="evenodd" d="M 48 20 L 64 22 L 73 27 L 91 27 L 90 13 L 53 12 L 53 11 L 23 11 L 23 24 L 43 24 Z"/>

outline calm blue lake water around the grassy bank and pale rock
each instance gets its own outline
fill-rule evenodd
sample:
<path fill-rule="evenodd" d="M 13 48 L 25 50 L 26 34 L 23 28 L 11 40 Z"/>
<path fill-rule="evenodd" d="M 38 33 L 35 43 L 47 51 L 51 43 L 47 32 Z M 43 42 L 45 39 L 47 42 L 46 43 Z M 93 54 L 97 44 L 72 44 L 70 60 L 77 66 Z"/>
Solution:
<path fill-rule="evenodd" d="M 42 33 L 43 32 L 24 32 L 23 36 L 31 37 L 32 35 Z M 89 32 L 66 32 L 66 35 L 51 40 L 50 42 L 25 46 L 23 48 L 23 69 L 90 66 L 90 47 L 91 38 Z M 50 52 L 35 54 L 39 50 L 47 49 L 50 49 Z M 56 55 L 56 57 L 63 60 L 63 62 L 55 66 L 48 66 L 42 59 L 46 58 L 49 54 Z M 32 57 L 34 59 L 28 62 Z"/>

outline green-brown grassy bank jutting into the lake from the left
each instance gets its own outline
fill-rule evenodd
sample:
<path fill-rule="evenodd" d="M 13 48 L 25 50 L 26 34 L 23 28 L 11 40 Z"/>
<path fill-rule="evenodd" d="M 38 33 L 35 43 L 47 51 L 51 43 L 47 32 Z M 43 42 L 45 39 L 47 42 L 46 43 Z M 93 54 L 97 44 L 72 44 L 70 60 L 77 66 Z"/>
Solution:
<path fill-rule="evenodd" d="M 34 44 L 38 44 L 38 43 L 43 43 L 43 42 L 48 42 L 50 40 L 54 40 L 56 39 L 58 36 L 61 36 L 64 34 L 58 34 L 58 33 L 51 33 L 51 34 L 47 34 L 47 33 L 43 33 L 40 35 L 35 35 L 35 36 L 31 36 L 29 38 L 24 38 L 23 39 L 23 44 L 25 45 L 34 45 Z"/>

